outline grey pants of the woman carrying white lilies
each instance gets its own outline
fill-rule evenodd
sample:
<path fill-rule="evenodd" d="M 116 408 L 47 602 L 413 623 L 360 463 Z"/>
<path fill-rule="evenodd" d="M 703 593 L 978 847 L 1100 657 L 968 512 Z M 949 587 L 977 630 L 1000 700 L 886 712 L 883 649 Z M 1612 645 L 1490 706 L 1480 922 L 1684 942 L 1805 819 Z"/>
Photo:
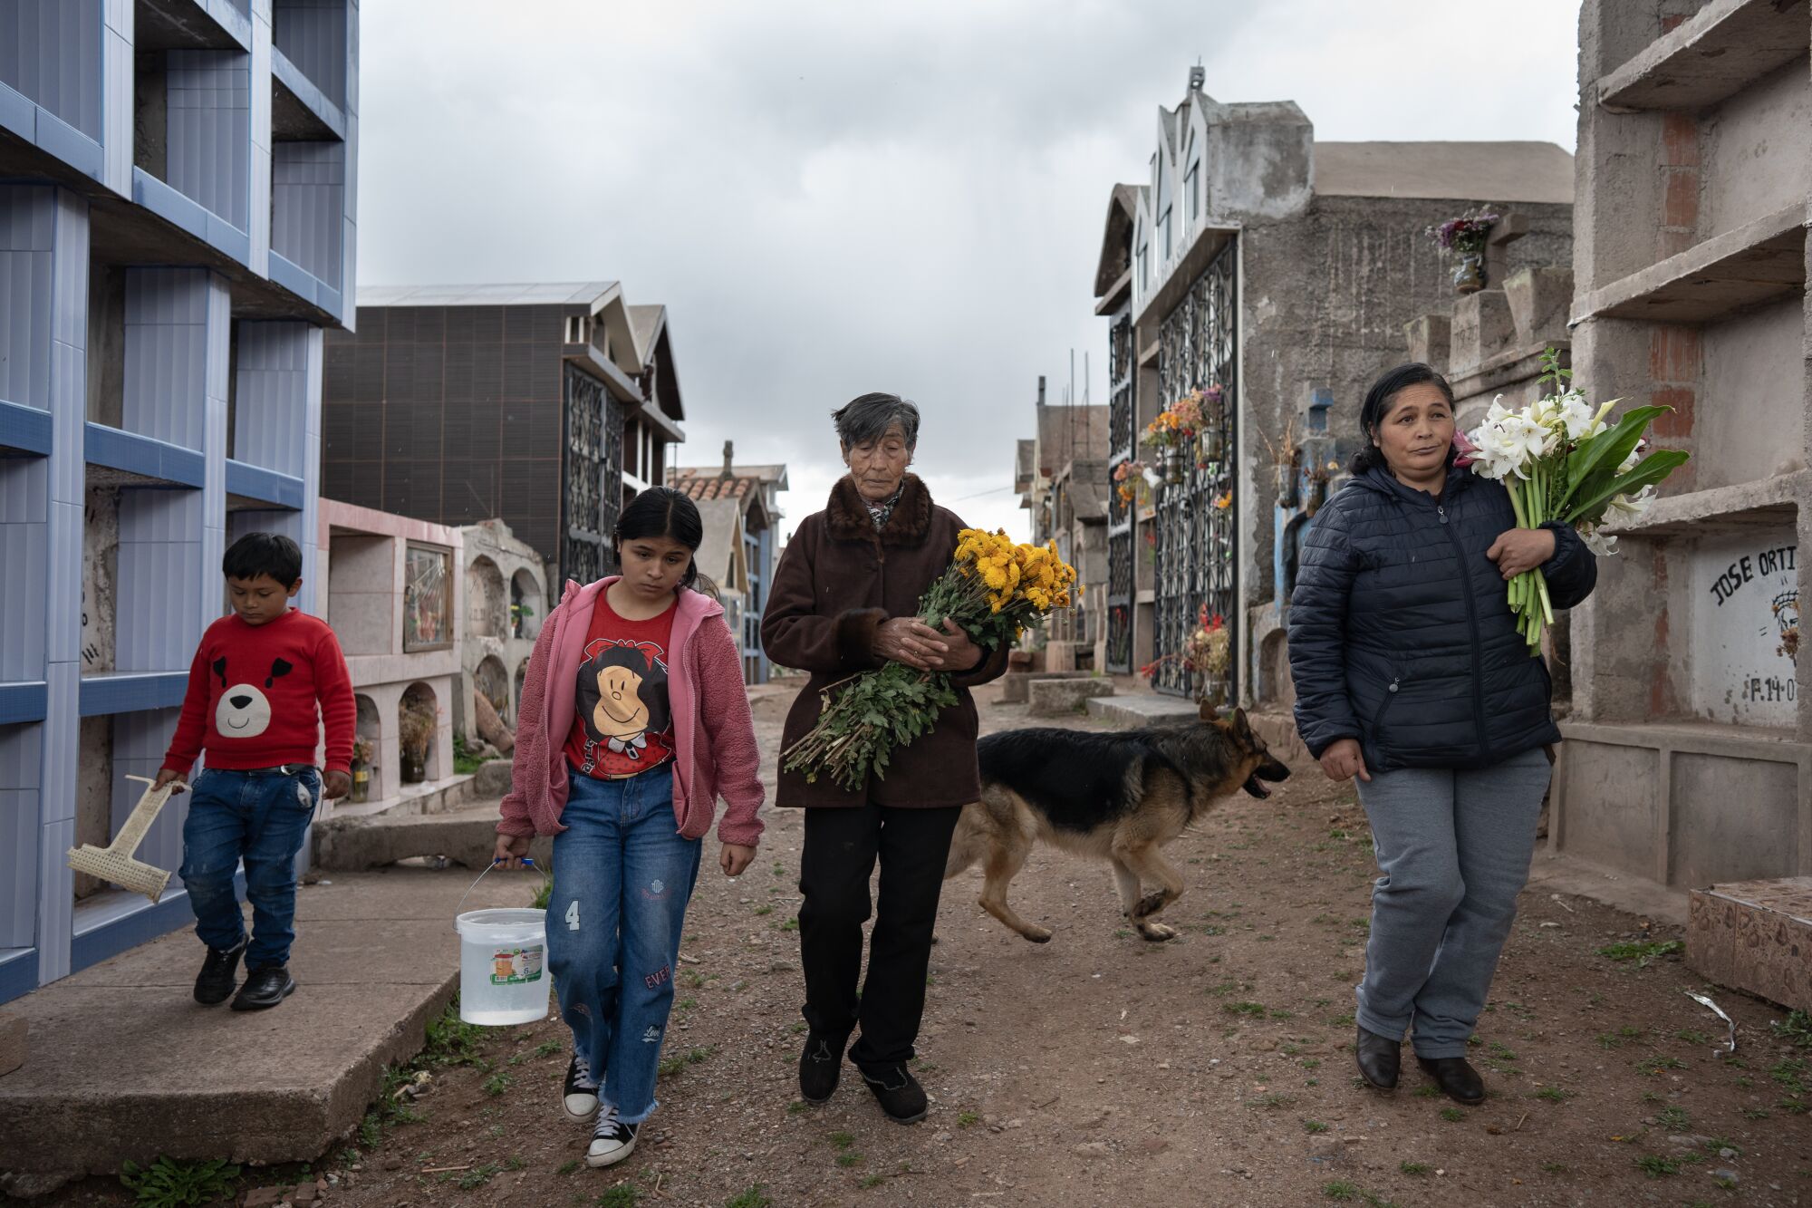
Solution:
<path fill-rule="evenodd" d="M 1462 1057 L 1529 880 L 1547 789 L 1540 747 L 1482 771 L 1404 767 L 1355 782 L 1384 876 L 1372 889 L 1372 941 L 1359 1025 L 1421 1057 Z"/>

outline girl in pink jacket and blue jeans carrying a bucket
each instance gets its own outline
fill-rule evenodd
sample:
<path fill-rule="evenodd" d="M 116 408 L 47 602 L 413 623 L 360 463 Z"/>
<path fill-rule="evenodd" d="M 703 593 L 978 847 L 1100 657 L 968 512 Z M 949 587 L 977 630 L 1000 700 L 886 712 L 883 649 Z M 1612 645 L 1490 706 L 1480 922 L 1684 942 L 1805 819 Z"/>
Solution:
<path fill-rule="evenodd" d="M 573 1028 L 562 1110 L 620 1163 L 654 1112 L 685 907 L 718 794 L 718 863 L 761 840 L 761 755 L 723 608 L 694 589 L 698 506 L 656 486 L 616 526 L 620 577 L 569 582 L 522 684 L 496 858 L 554 836 L 547 970 Z M 708 588 L 708 582 L 705 584 Z"/>

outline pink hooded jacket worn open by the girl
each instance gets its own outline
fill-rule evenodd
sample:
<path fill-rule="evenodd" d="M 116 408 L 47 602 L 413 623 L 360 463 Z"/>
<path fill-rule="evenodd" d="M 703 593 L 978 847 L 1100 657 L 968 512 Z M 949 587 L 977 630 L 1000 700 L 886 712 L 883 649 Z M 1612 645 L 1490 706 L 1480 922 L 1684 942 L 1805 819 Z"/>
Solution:
<path fill-rule="evenodd" d="M 616 582 L 567 582 L 560 606 L 542 624 L 522 680 L 516 749 L 500 834 L 558 834 L 567 802 L 567 733 L 573 729 L 578 666 L 598 597 Z M 725 843 L 761 842 L 761 751 L 743 687 L 743 657 L 723 622 L 723 606 L 698 591 L 680 591 L 667 648 L 667 695 L 674 718 L 674 822 L 685 838 L 703 838 L 723 793 L 718 823 Z"/>

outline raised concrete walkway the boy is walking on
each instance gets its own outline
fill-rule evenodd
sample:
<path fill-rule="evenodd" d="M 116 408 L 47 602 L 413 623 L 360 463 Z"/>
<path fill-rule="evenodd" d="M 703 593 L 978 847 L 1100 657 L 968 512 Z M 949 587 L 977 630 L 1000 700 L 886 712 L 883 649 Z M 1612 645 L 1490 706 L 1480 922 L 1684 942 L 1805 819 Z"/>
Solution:
<path fill-rule="evenodd" d="M 0 1077 L 0 1188 L 51 1190 L 123 1159 L 308 1161 L 352 1130 L 384 1065 L 413 1056 L 458 987 L 464 869 L 332 872 L 297 898 L 299 989 L 266 1012 L 190 998 L 183 930 L 7 1005 L 31 1025 Z M 496 872 L 466 909 L 527 905 L 533 872 Z"/>

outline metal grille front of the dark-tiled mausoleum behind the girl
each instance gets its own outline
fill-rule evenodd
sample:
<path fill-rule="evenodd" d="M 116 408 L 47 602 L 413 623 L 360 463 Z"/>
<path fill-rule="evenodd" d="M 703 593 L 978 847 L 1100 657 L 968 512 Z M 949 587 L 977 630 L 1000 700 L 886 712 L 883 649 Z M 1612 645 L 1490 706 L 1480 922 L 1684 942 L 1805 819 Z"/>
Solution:
<path fill-rule="evenodd" d="M 596 582 L 616 568 L 611 533 L 623 510 L 623 410 L 603 383 L 573 366 L 564 410 L 560 577 Z"/>

